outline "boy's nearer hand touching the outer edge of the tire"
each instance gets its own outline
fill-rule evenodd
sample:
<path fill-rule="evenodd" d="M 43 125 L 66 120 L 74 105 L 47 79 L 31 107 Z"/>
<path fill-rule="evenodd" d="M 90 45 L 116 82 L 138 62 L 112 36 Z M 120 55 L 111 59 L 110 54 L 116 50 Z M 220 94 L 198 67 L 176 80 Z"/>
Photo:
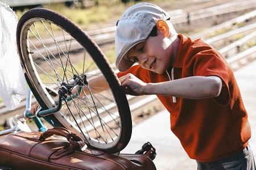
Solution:
<path fill-rule="evenodd" d="M 146 83 L 138 79 L 135 75 L 129 73 L 119 78 L 122 87 L 125 88 L 125 92 L 128 95 L 139 96 L 144 95 L 144 88 Z"/>

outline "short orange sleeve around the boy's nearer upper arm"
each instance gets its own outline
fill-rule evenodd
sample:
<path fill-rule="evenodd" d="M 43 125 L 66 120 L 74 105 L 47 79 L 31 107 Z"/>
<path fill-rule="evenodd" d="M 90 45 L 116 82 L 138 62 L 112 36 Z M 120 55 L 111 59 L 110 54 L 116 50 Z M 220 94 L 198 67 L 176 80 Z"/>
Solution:
<path fill-rule="evenodd" d="M 195 76 L 218 76 L 222 80 L 222 88 L 219 96 L 213 100 L 222 106 L 230 101 L 229 93 L 229 69 L 225 59 L 214 50 L 206 50 L 197 53 L 193 57 L 193 75 Z"/>

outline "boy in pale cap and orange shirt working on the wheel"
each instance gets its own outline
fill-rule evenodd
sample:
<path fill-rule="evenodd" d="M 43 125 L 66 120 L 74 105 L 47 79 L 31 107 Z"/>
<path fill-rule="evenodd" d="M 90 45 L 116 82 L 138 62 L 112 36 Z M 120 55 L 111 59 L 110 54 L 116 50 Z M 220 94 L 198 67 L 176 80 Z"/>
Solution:
<path fill-rule="evenodd" d="M 177 35 L 167 12 L 151 3 L 123 13 L 115 48 L 126 93 L 158 96 L 198 169 L 255 169 L 247 112 L 233 72 L 216 49 Z"/>

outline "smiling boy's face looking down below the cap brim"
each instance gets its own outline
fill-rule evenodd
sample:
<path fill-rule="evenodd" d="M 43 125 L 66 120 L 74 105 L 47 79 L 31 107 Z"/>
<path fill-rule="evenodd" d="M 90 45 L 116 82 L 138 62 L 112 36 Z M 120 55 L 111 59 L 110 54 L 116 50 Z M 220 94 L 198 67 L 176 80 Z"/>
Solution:
<path fill-rule="evenodd" d="M 144 69 L 163 74 L 171 66 L 171 42 L 158 33 L 158 36 L 150 36 L 131 48 L 125 59 L 138 62 Z"/>

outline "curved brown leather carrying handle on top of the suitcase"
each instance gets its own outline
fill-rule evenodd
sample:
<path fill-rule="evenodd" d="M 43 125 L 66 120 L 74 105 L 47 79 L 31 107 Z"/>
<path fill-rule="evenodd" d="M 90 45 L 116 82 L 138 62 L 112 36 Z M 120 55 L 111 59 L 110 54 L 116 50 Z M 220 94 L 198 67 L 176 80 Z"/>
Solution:
<path fill-rule="evenodd" d="M 67 138 L 68 142 L 72 145 L 74 149 L 82 150 L 82 148 L 85 146 L 84 140 L 81 137 L 79 137 L 79 135 L 73 133 L 73 131 L 61 127 L 48 129 L 47 131 L 40 135 L 39 140 L 45 141 L 52 135 L 59 135 L 61 137 Z"/>

